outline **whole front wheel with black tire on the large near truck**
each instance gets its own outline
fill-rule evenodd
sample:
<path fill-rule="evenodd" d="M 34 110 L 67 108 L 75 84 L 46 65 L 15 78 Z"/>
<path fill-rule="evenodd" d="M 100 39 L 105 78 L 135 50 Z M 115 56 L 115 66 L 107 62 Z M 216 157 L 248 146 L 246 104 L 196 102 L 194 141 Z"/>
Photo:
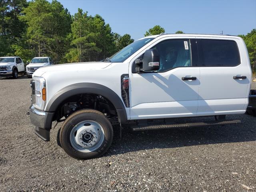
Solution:
<path fill-rule="evenodd" d="M 113 128 L 106 116 L 96 110 L 79 110 L 60 129 L 60 144 L 71 157 L 86 160 L 104 154 L 113 140 Z"/>

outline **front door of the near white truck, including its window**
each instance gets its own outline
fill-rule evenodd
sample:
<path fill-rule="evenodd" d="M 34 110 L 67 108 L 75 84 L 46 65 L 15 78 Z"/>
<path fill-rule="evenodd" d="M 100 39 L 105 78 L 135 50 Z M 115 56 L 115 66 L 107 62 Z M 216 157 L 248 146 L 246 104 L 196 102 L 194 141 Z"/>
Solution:
<path fill-rule="evenodd" d="M 152 48 L 160 54 L 160 70 L 132 72 L 137 58 L 129 65 L 130 119 L 196 116 L 200 70 L 193 67 L 193 62 L 198 61 L 195 38 L 165 38 L 149 49 Z"/>

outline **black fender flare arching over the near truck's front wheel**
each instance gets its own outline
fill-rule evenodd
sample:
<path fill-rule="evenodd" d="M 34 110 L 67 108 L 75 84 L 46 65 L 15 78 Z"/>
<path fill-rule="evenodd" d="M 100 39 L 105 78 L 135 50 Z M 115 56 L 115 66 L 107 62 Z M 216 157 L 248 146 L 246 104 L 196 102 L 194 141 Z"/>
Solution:
<path fill-rule="evenodd" d="M 96 83 L 76 83 L 59 90 L 48 102 L 47 112 L 55 112 L 58 106 L 67 98 L 77 94 L 98 94 L 108 99 L 116 108 L 118 121 L 127 122 L 127 114 L 121 98 L 110 88 Z"/>

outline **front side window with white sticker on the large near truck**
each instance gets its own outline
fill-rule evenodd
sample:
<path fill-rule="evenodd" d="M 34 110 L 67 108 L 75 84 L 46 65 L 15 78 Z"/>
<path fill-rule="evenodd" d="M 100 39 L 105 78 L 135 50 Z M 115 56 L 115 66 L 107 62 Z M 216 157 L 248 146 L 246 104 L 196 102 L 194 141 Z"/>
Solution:
<path fill-rule="evenodd" d="M 160 55 L 160 69 L 158 72 L 192 65 L 189 39 L 164 40 L 154 46 L 153 49 L 157 49 Z"/>

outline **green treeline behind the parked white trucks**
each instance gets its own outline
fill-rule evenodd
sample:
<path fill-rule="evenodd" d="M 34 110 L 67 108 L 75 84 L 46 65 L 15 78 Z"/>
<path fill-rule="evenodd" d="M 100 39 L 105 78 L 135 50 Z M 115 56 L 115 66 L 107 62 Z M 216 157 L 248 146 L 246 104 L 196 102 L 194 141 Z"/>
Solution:
<path fill-rule="evenodd" d="M 57 0 L 0 0 L 0 27 L 0 56 L 20 56 L 26 62 L 35 56 L 50 56 L 56 64 L 98 61 L 134 41 L 129 34 L 112 32 L 100 15 L 82 9 L 71 15 Z M 156 25 L 144 36 L 164 32 Z M 255 70 L 256 29 L 239 36 Z"/>

